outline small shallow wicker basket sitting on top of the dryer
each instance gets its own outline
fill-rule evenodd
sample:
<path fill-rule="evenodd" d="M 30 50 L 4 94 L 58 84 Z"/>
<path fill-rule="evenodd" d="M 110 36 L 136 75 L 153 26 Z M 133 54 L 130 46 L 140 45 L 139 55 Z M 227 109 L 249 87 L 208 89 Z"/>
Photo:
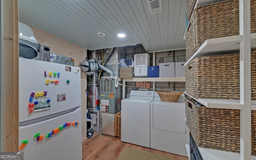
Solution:
<path fill-rule="evenodd" d="M 163 102 L 177 102 L 183 92 L 156 92 Z"/>

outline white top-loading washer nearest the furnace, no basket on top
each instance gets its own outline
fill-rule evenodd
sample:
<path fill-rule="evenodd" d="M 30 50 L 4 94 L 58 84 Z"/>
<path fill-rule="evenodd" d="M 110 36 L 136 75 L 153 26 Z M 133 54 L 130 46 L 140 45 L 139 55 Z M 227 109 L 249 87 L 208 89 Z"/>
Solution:
<path fill-rule="evenodd" d="M 132 90 L 121 101 L 121 141 L 150 148 L 150 103 L 154 91 Z"/>

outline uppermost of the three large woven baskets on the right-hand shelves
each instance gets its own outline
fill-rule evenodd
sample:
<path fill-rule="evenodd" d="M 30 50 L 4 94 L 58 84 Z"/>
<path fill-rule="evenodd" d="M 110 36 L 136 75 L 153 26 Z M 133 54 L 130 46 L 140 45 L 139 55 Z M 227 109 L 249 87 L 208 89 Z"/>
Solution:
<path fill-rule="evenodd" d="M 256 0 L 251 0 L 251 33 L 256 32 Z M 188 60 L 207 39 L 239 35 L 239 0 L 224 0 L 194 9 L 186 31 Z"/>

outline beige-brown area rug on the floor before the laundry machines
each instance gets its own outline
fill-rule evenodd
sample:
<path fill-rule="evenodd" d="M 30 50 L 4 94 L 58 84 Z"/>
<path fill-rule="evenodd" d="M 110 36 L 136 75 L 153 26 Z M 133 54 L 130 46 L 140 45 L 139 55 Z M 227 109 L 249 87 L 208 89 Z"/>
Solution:
<path fill-rule="evenodd" d="M 118 158 L 118 160 L 174 160 L 173 158 L 161 156 L 142 150 L 136 150 L 133 148 L 126 147 Z"/>

